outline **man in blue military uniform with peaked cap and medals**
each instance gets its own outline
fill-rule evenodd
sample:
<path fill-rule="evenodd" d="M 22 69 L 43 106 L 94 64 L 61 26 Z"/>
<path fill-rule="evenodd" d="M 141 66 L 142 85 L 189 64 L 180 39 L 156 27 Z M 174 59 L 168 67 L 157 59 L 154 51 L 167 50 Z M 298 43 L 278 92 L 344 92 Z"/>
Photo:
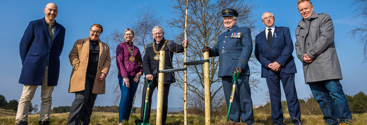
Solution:
<path fill-rule="evenodd" d="M 221 12 L 226 31 L 218 36 L 214 48 L 205 46 L 202 51 L 209 51 L 209 57 L 219 56 L 218 77 L 222 78 L 227 108 L 234 82 L 233 73 L 240 71 L 229 119 L 252 125 L 254 112 L 248 83 L 250 68 L 247 63 L 252 53 L 251 31 L 247 27 L 236 26 L 236 17 L 239 15 L 236 10 L 225 8 Z"/>

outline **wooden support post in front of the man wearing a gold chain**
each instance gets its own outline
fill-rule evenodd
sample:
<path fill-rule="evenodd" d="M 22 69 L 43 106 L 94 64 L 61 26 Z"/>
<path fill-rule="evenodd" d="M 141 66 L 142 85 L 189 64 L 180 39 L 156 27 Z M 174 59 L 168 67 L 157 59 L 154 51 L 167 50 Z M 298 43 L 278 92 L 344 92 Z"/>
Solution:
<path fill-rule="evenodd" d="M 164 70 L 164 57 L 166 52 L 159 51 L 159 70 Z M 157 96 L 157 122 L 156 125 L 162 125 L 162 112 L 163 112 L 163 84 L 164 73 L 158 74 L 158 96 Z"/>

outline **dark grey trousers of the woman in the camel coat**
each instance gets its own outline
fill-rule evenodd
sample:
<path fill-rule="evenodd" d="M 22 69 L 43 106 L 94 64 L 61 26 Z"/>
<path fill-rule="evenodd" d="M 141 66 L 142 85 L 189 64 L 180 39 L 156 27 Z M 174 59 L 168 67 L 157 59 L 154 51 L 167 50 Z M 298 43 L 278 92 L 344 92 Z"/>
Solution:
<path fill-rule="evenodd" d="M 95 76 L 86 76 L 86 88 L 75 93 L 75 99 L 71 104 L 68 125 L 88 125 L 92 115 L 94 101 L 97 94 L 93 94 Z"/>

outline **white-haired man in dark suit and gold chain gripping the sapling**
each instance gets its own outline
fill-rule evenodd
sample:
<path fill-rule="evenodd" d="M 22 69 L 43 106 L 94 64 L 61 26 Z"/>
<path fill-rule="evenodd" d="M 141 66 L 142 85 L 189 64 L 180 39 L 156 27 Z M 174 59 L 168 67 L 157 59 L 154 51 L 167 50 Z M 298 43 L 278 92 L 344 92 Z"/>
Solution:
<path fill-rule="evenodd" d="M 164 39 L 163 28 L 160 26 L 155 26 L 152 30 L 152 36 L 154 38 L 152 43 L 149 43 L 145 49 L 145 55 L 143 57 L 143 71 L 145 74 L 145 79 L 153 80 L 152 84 L 150 84 L 150 92 L 148 105 L 146 106 L 146 114 L 145 114 L 145 123 L 149 122 L 150 119 L 150 107 L 152 104 L 152 95 L 156 87 L 158 87 L 158 72 L 159 72 L 159 51 L 164 50 L 165 61 L 164 61 L 164 69 L 173 69 L 172 66 L 172 57 L 174 53 L 182 53 L 184 51 L 185 43 L 188 45 L 188 40 L 185 39 L 182 41 L 182 44 L 179 45 L 174 41 Z M 187 46 L 186 46 L 187 47 Z M 163 85 L 163 112 L 162 112 L 162 125 L 166 124 L 167 118 L 167 108 L 168 108 L 168 94 L 170 92 L 171 83 L 175 83 L 175 74 L 174 72 L 164 73 L 164 85 Z M 147 84 L 144 84 L 143 92 L 146 92 Z M 135 123 L 143 122 L 144 117 L 144 103 L 145 103 L 145 94 L 142 94 L 142 102 L 141 102 L 141 119 L 136 119 Z"/>

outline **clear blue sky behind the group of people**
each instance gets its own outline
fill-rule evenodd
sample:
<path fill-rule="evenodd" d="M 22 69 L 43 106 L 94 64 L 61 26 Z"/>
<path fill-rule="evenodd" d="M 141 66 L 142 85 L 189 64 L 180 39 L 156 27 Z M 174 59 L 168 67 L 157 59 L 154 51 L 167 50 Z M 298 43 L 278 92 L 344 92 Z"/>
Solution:
<path fill-rule="evenodd" d="M 18 83 L 21 72 L 21 59 L 19 57 L 19 41 L 22 38 L 24 30 L 32 20 L 41 19 L 45 16 L 43 9 L 48 0 L 36 1 L 1 1 L 0 5 L 0 35 L 2 45 L 0 53 L 3 55 L 0 60 L 2 71 L 0 72 L 0 94 L 4 95 L 7 101 L 19 98 L 22 93 L 23 85 Z M 92 24 L 98 23 L 103 26 L 101 37 L 106 37 L 113 29 L 123 30 L 128 27 L 128 22 L 132 20 L 133 14 L 141 6 L 151 5 L 157 7 L 157 11 L 163 16 L 162 26 L 167 29 L 166 19 L 175 16 L 171 13 L 171 0 L 141 0 L 141 1 L 103 1 L 103 0 L 64 0 L 52 1 L 58 5 L 59 13 L 57 22 L 66 28 L 65 45 L 60 56 L 61 69 L 58 86 L 55 87 L 52 94 L 52 107 L 70 106 L 75 94 L 68 93 L 70 73 L 72 66 L 69 63 L 68 54 L 77 39 L 86 38 L 89 35 L 89 28 Z M 251 4 L 256 4 L 255 18 L 261 20 L 261 14 L 264 11 L 270 11 L 275 15 L 275 25 L 289 27 L 293 42 L 295 42 L 294 29 L 297 26 L 301 15 L 297 11 L 297 0 L 252 0 Z M 363 46 L 357 44 L 347 36 L 347 32 L 357 26 L 352 17 L 352 10 L 349 8 L 349 0 L 313 0 L 314 10 L 317 13 L 325 12 L 331 16 L 335 28 L 335 47 L 344 79 L 341 80 L 345 94 L 354 95 L 359 91 L 367 92 L 366 67 L 362 64 Z M 221 8 L 218 8 L 220 11 Z M 189 10 L 191 11 L 191 10 Z M 357 22 L 360 20 L 357 20 Z M 265 25 L 261 21 L 255 22 L 258 30 L 264 29 Z M 167 31 L 167 30 L 166 30 Z M 172 38 L 172 33 L 166 33 L 166 37 Z M 295 52 L 293 53 L 295 56 Z M 295 58 L 297 71 L 295 83 L 298 98 L 304 98 L 311 94 L 309 86 L 304 84 L 304 76 L 301 62 Z M 108 76 L 108 79 L 117 81 L 117 76 Z M 261 90 L 252 95 L 254 105 L 264 105 L 265 92 L 268 89 L 265 79 L 262 79 Z M 95 105 L 112 105 L 113 87 L 115 82 L 106 84 L 106 94 L 98 95 Z M 177 94 L 182 94 L 182 90 L 172 87 L 169 96 L 169 107 L 177 107 L 175 103 L 183 101 L 177 100 Z M 282 91 L 282 93 L 284 93 Z M 282 100 L 285 100 L 282 94 Z M 36 91 L 32 100 L 33 105 L 40 105 L 40 87 Z M 140 96 L 135 106 L 140 107 Z"/>

